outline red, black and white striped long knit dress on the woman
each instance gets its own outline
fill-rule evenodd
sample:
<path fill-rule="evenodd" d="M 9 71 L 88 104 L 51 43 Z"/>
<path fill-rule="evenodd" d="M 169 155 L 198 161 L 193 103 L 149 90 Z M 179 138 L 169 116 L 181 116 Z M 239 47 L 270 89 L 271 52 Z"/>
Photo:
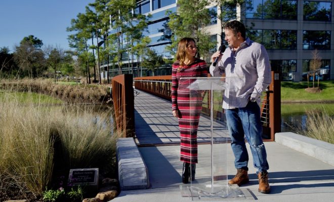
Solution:
<path fill-rule="evenodd" d="M 195 79 L 182 79 L 183 77 L 207 77 L 205 61 L 196 59 L 192 64 L 183 67 L 176 61 L 172 66 L 172 110 L 179 110 L 180 160 L 194 164 L 198 162 L 197 128 L 202 110 L 202 95 L 201 92 L 190 93 L 187 87 Z"/>

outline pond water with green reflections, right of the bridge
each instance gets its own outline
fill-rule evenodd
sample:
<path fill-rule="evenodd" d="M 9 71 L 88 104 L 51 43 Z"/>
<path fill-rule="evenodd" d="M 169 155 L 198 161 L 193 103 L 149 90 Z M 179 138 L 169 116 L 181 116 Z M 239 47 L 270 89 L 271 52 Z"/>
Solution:
<path fill-rule="evenodd" d="M 281 104 L 281 132 L 295 132 L 307 129 L 307 112 L 311 110 L 326 110 L 334 118 L 334 104 Z"/>

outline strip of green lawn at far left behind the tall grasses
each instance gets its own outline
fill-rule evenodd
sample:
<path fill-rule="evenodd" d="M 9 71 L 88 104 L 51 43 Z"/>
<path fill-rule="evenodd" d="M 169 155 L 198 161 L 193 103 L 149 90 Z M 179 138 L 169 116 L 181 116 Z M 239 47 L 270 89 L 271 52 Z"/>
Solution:
<path fill-rule="evenodd" d="M 9 96 L 5 96 L 5 93 Z M 61 104 L 62 100 L 35 92 L 6 92 L 0 91 L 0 102 L 5 99 L 4 97 L 10 97 L 17 99 L 19 103 L 48 103 L 48 104 Z"/>

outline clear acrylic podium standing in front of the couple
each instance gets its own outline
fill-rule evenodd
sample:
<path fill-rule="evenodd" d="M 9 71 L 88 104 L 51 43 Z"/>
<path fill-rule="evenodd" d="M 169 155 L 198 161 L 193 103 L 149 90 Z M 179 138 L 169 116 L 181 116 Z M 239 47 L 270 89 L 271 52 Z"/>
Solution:
<path fill-rule="evenodd" d="M 225 117 L 222 112 L 225 87 L 225 77 L 188 77 L 181 78 L 179 82 L 179 89 L 189 91 L 190 133 L 197 130 L 197 142 L 205 138 L 206 142 L 210 142 L 205 150 L 201 149 L 202 146 L 197 149 L 195 180 L 180 185 L 181 195 L 190 197 L 191 200 L 245 198 L 238 185 L 228 185 L 228 169 L 234 167 L 234 156 L 227 153 L 230 144 L 227 144 L 229 138 L 226 121 L 222 118 Z M 201 107 L 198 122 L 193 117 L 196 117 L 195 113 L 198 115 Z"/>

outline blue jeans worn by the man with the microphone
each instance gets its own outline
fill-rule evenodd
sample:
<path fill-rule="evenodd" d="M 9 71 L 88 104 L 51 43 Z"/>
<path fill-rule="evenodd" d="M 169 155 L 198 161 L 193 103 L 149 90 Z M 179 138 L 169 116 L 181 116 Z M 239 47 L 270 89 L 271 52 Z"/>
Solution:
<path fill-rule="evenodd" d="M 258 172 L 269 169 L 267 153 L 262 141 L 262 125 L 260 122 L 260 107 L 255 102 L 248 102 L 244 108 L 226 110 L 227 127 L 232 139 L 236 169 L 248 170 L 248 153 L 244 137 L 246 137 L 253 155 L 254 167 Z"/>

